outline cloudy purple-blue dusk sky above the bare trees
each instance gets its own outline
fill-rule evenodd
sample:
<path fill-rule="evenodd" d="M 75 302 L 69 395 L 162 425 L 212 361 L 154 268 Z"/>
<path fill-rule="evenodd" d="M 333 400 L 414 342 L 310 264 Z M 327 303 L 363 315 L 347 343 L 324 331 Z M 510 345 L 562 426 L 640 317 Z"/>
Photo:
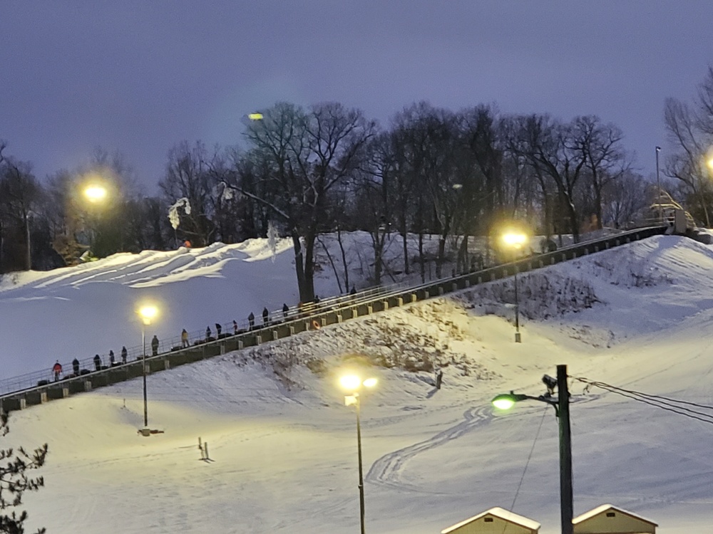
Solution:
<path fill-rule="evenodd" d="M 710 0 L 4 0 L 0 138 L 41 178 L 122 152 L 153 193 L 170 147 L 235 145 L 280 100 L 383 125 L 419 100 L 496 103 L 614 122 L 649 175 L 712 28 Z"/>

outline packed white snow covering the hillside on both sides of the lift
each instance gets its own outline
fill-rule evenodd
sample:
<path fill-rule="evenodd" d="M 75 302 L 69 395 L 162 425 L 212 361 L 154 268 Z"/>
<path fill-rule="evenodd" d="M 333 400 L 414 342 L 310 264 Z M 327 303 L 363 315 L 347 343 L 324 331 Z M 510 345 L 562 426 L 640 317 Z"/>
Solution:
<path fill-rule="evenodd" d="M 294 305 L 293 269 L 287 241 L 253 240 L 6 276 L 3 375 L 138 345 L 148 296 L 162 339 Z M 140 379 L 13 412 L 3 444 L 50 449 L 46 487 L 24 497 L 29 530 L 358 532 L 356 418 L 337 387 L 349 367 L 379 379 L 361 395 L 368 532 L 435 534 L 500 506 L 558 533 L 553 409 L 496 413 L 490 399 L 543 394 L 567 364 L 575 515 L 612 503 L 660 533 L 713 532 L 713 426 L 576 379 L 711 406 L 711 273 L 712 247 L 658 236 L 519 276 L 522 343 L 509 279 L 177 367 L 148 377 L 149 426 L 164 431 L 149 437 Z M 317 292 L 337 290 L 325 264 Z"/>

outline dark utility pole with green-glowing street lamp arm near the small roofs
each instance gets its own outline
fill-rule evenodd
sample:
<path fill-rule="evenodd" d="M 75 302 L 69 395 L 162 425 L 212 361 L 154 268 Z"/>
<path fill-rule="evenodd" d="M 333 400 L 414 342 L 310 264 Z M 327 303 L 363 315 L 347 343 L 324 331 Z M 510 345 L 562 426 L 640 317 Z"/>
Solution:
<path fill-rule="evenodd" d="M 501 394 L 492 401 L 498 409 L 510 409 L 515 402 L 537 400 L 546 402 L 555 408 L 555 415 L 560 426 L 560 519 L 562 534 L 573 534 L 572 518 L 574 513 L 572 496 L 572 434 L 570 432 L 570 392 L 567 385 L 567 366 L 557 366 L 557 379 L 545 375 L 542 379 L 547 386 L 547 393 L 540 397 L 516 394 Z M 555 389 L 558 396 L 553 397 Z"/>

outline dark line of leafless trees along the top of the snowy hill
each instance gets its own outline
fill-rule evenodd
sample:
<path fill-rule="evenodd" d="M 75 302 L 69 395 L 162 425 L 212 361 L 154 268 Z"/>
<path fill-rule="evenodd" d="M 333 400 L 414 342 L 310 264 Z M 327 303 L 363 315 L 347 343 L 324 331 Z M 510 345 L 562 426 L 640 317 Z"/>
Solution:
<path fill-rule="evenodd" d="M 713 109 L 712 71 L 702 87 L 708 92 L 696 103 L 701 117 L 706 105 Z M 452 111 L 421 102 L 380 126 L 339 103 L 277 103 L 261 113 L 261 120 L 245 120 L 242 149 L 209 149 L 200 141 L 171 147 L 159 197 L 141 194 L 120 155 L 97 150 L 86 167 L 40 180 L 30 162 L 10 154 L 9 142 L 0 142 L 0 272 L 166 250 L 185 240 L 231 244 L 277 229 L 292 239 L 299 294 L 307 301 L 314 298 L 315 244 L 326 232 L 369 232 L 379 283 L 388 234 L 403 239 L 403 270 L 419 269 L 425 278 L 429 234 L 438 236 L 434 261 L 442 276 L 449 251 L 456 251 L 459 269 L 467 268 L 468 236 L 494 236 L 505 221 L 576 240 L 602 225 L 623 226 L 650 204 L 622 131 L 593 115 L 563 122 L 491 105 Z M 709 123 L 691 115 L 687 105 L 667 102 L 667 127 L 683 155 L 694 145 L 686 120 L 701 139 L 713 135 Z M 679 197 L 694 198 L 692 211 L 707 220 L 710 182 L 704 168 L 692 178 L 692 162 L 670 155 L 666 172 L 679 178 Z M 91 180 L 108 187 L 105 202 L 84 197 Z M 407 234 L 420 236 L 415 262 L 406 253 Z"/>

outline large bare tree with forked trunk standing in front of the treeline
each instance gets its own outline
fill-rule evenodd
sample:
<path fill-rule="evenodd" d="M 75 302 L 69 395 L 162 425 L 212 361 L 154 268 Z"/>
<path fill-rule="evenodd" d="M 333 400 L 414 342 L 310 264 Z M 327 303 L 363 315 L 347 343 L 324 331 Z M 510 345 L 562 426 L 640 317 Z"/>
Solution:
<path fill-rule="evenodd" d="M 302 301 L 314 300 L 314 244 L 324 230 L 329 192 L 359 167 L 374 122 L 360 110 L 338 103 L 312 106 L 305 112 L 278 103 L 262 112 L 263 120 L 247 125 L 247 139 L 270 162 L 274 201 L 234 184 L 268 206 L 289 227 L 297 285 Z"/>

